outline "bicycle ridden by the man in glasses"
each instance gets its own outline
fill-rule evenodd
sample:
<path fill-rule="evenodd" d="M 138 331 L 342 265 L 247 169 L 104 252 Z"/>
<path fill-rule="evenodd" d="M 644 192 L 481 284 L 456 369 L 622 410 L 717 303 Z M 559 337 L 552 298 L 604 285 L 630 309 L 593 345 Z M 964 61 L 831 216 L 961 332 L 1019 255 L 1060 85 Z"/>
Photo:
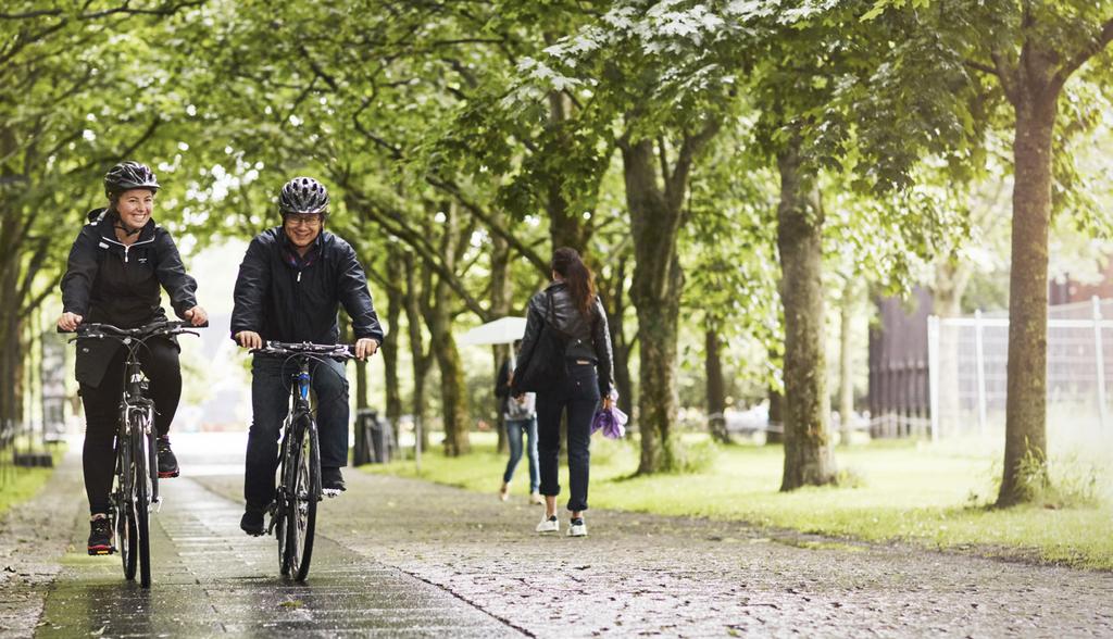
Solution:
<path fill-rule="evenodd" d="M 267 534 L 278 539 L 278 568 L 283 577 L 305 581 L 313 559 L 313 535 L 317 522 L 317 502 L 324 499 L 321 484 L 321 446 L 317 422 L 313 416 L 309 387 L 313 381 L 309 364 L 322 357 L 352 360 L 354 348 L 346 344 L 309 344 L 267 342 L 256 354 L 297 361 L 292 375 L 290 411 L 283 422 L 283 438 L 275 500 L 270 509 Z"/>

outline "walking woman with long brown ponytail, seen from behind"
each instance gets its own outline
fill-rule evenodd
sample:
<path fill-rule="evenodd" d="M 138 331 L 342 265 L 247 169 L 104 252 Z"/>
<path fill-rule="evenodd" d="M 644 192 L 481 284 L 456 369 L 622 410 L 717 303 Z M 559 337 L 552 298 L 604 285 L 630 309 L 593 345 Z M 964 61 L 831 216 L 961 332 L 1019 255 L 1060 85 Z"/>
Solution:
<path fill-rule="evenodd" d="M 514 370 L 513 394 L 523 394 L 522 380 L 526 371 L 543 364 L 549 380 L 536 389 L 538 452 L 541 462 L 541 494 L 545 514 L 536 531 L 559 532 L 556 519 L 558 460 L 560 454 L 561 415 L 568 414 L 568 466 L 571 518 L 569 537 L 588 534 L 583 511 L 588 510 L 588 478 L 591 463 L 591 420 L 602 400 L 611 406 L 612 376 L 611 338 L 607 313 L 595 295 L 594 277 L 580 254 L 572 248 L 553 252 L 552 284 L 530 299 L 522 338 L 522 354 Z M 560 362 L 531 362 L 550 356 L 551 350 L 539 348 L 542 330 L 559 336 L 563 346 Z M 559 356 L 559 355 L 558 355 Z"/>

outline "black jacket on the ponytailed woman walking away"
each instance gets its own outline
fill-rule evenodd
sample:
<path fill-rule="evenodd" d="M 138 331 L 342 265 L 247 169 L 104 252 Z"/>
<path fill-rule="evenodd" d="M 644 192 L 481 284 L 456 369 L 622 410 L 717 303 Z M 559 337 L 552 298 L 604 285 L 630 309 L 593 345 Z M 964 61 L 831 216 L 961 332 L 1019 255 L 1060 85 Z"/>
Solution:
<path fill-rule="evenodd" d="M 552 323 L 558 331 L 569 336 L 564 348 L 567 360 L 589 360 L 594 362 L 599 373 L 599 392 L 603 397 L 614 387 L 614 360 L 611 353 L 611 334 L 607 327 L 607 311 L 603 303 L 595 297 L 594 312 L 584 316 L 572 302 L 568 285 L 556 282 L 530 298 L 525 315 L 525 335 L 522 337 L 522 357 L 516 362 L 516 371 L 523 371 L 526 358 L 533 353 L 533 344 L 541 334 L 541 326 L 546 322 L 549 307 L 546 296 L 553 296 Z M 515 373 L 514 377 L 519 375 Z"/>

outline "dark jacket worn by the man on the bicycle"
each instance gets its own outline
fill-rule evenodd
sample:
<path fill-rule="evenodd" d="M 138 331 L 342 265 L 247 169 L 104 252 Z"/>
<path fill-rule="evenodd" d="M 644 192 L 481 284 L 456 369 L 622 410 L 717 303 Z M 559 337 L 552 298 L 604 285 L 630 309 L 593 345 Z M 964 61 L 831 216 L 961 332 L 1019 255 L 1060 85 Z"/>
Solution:
<path fill-rule="evenodd" d="M 356 338 L 383 342 L 383 330 L 355 249 L 322 232 L 302 257 L 282 227 L 255 236 L 236 278 L 232 336 L 254 331 L 264 340 L 336 344 L 338 305 L 343 304 Z"/>

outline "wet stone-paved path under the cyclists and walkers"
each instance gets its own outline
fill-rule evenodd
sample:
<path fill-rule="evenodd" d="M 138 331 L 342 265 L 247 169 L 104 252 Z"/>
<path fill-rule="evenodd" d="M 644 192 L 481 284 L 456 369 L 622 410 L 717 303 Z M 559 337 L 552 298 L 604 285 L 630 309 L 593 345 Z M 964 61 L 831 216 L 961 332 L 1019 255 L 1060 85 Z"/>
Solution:
<path fill-rule="evenodd" d="M 0 636 L 1113 636 L 1111 573 L 638 513 L 590 511 L 588 538 L 540 537 L 541 509 L 498 501 L 499 478 L 486 495 L 349 469 L 297 584 L 274 538 L 239 531 L 242 453 L 215 448 L 229 452 L 181 454 L 184 476 L 162 484 L 149 591 L 117 557 L 83 554 L 68 460 L 52 522 L 0 523 L 0 541 L 47 529 L 2 560 Z"/>

